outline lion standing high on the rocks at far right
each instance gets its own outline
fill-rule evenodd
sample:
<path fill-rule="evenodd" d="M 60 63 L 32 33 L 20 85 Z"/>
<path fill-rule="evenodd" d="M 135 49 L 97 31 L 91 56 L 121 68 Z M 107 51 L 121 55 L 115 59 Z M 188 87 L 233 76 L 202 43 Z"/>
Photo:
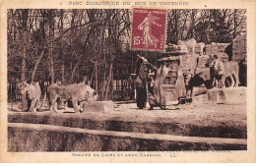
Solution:
<path fill-rule="evenodd" d="M 236 87 L 239 84 L 239 66 L 233 61 L 224 62 L 218 55 L 211 55 L 206 67 L 210 67 L 210 77 L 212 87 L 219 87 L 221 81 L 221 88 L 225 87 L 225 78 L 230 78 L 231 87 Z"/>

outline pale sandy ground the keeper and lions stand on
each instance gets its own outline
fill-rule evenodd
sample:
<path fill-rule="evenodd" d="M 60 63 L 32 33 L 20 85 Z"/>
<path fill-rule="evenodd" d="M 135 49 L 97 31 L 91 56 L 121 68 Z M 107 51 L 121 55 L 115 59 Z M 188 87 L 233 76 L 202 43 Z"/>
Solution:
<path fill-rule="evenodd" d="M 9 111 L 20 112 L 19 103 L 9 103 Z M 11 111 L 13 108 L 13 111 Z M 41 110 L 48 113 L 48 109 Z M 62 112 L 62 113 L 61 113 Z M 65 113 L 65 114 L 64 114 Z M 38 113 L 40 114 L 40 113 Z M 171 123 L 187 127 L 223 127 L 246 131 L 246 103 L 243 104 L 189 104 L 189 105 L 169 105 L 166 110 L 155 108 L 154 110 L 138 109 L 136 103 L 115 103 L 114 109 L 105 112 L 84 112 L 74 113 L 74 110 L 61 110 L 58 116 L 81 117 L 96 121 L 129 121 L 136 123 Z M 62 117 L 63 117 L 62 116 Z M 224 131 L 223 131 L 224 132 Z M 242 134 L 243 135 L 243 134 Z M 246 138 L 246 136 L 242 137 Z"/>

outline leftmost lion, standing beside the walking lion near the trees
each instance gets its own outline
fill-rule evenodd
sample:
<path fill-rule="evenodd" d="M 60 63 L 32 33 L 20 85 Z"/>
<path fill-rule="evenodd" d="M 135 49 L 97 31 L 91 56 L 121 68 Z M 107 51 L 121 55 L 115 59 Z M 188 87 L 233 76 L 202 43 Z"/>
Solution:
<path fill-rule="evenodd" d="M 27 93 L 27 98 L 31 101 L 31 106 L 27 111 L 36 112 L 36 106 L 41 96 L 41 89 L 38 83 L 18 83 L 21 93 Z"/>

